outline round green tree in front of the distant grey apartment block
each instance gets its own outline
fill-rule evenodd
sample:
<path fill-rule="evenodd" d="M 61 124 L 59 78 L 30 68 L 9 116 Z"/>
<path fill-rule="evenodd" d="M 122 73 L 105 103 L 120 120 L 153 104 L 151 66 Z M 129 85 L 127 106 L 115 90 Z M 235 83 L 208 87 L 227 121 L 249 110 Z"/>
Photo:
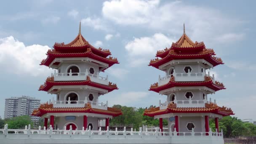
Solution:
<path fill-rule="evenodd" d="M 28 115 L 6 119 L 5 123 L 8 123 L 8 128 L 10 129 L 25 128 L 25 126 L 29 124 L 31 128 L 33 127 L 33 122 Z"/>

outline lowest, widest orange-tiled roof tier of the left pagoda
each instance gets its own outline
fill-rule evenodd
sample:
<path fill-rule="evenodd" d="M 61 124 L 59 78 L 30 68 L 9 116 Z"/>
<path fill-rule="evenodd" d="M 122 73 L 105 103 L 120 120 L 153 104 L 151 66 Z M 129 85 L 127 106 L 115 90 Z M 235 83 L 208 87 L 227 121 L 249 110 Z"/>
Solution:
<path fill-rule="evenodd" d="M 84 112 L 84 113 L 94 113 L 94 114 L 101 114 L 101 115 L 111 115 L 113 117 L 122 115 L 122 111 L 117 108 L 107 107 L 105 109 L 96 109 L 92 108 L 91 104 L 85 104 L 84 107 L 53 107 L 53 104 L 41 104 L 38 109 L 35 109 L 32 112 L 32 115 L 41 117 L 47 113 L 66 113 L 66 112 Z"/>

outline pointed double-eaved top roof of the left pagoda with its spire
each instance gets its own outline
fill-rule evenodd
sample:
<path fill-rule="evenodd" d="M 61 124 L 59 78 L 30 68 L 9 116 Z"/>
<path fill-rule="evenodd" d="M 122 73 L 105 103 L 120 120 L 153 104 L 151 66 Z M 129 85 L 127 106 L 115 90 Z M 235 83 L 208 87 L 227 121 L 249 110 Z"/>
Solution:
<path fill-rule="evenodd" d="M 95 48 L 85 40 L 81 34 L 81 23 L 79 27 L 79 33 L 77 37 L 75 37 L 75 40 L 68 44 L 55 43 L 53 48 L 53 50 L 48 50 L 46 53 L 47 58 L 43 59 L 40 65 L 49 67 L 55 58 L 71 57 L 88 57 L 109 64 L 109 67 L 111 67 L 113 64 L 119 64 L 117 58 L 110 56 L 111 52 L 109 50 Z M 109 56 L 109 58 L 107 58 L 107 56 Z M 59 62 L 55 62 L 54 64 L 58 65 Z"/>

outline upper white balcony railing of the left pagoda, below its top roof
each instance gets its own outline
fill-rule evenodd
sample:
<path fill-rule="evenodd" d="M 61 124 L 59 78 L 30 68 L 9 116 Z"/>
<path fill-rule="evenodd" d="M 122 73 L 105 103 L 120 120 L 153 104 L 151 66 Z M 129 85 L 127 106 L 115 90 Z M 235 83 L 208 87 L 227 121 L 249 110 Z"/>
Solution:
<path fill-rule="evenodd" d="M 108 85 L 109 80 L 107 77 L 101 77 L 98 74 L 91 74 L 88 72 L 88 69 L 86 69 L 85 72 L 66 72 L 66 73 L 54 73 L 52 74 L 54 77 L 54 81 L 79 81 L 79 80 L 87 80 L 87 76 L 90 77 L 92 82 L 100 83 L 103 85 Z"/>

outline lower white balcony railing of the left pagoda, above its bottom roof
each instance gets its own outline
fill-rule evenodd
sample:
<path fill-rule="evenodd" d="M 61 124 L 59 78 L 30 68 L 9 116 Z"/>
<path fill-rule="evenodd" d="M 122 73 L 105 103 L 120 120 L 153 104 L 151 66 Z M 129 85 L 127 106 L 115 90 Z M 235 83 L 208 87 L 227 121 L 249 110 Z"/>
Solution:
<path fill-rule="evenodd" d="M 52 101 L 53 107 L 85 107 L 85 104 L 91 104 L 92 108 L 96 109 L 104 109 L 107 110 L 108 101 L 106 103 L 99 103 L 98 99 L 96 101 L 88 101 L 87 97 L 85 97 L 84 101 Z"/>

